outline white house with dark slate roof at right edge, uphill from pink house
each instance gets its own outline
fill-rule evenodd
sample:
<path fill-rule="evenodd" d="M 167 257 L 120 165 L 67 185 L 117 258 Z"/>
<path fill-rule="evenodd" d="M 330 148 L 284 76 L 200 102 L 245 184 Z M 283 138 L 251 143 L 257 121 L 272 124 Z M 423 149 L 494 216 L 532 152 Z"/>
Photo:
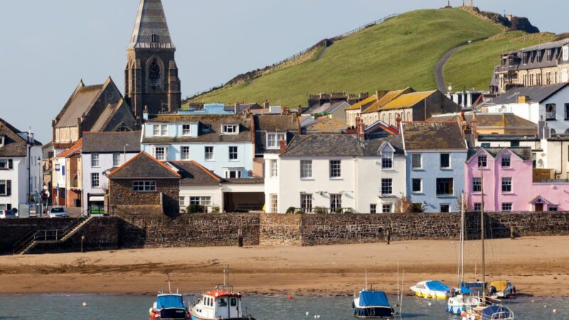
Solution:
<path fill-rule="evenodd" d="M 569 84 L 514 87 L 495 97 L 486 112 L 513 113 L 533 123 L 544 120 L 551 134 L 569 134 Z"/>

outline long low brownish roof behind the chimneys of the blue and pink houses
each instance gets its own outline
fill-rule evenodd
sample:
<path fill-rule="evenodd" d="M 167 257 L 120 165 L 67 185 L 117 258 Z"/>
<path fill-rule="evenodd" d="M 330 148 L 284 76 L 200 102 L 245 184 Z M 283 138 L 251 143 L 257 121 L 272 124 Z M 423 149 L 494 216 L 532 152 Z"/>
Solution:
<path fill-rule="evenodd" d="M 435 115 L 427 121 L 457 121 L 459 114 L 442 114 Z M 474 114 L 464 114 L 464 119 L 468 124 L 472 123 Z M 528 127 L 537 128 L 537 124 L 523 119 L 513 113 L 477 113 L 477 127 Z"/>

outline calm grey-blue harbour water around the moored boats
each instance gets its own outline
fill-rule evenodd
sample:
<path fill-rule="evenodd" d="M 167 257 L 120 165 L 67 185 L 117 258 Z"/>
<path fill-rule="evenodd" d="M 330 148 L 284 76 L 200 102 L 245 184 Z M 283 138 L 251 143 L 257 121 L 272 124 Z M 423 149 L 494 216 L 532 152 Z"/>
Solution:
<path fill-rule="evenodd" d="M 148 309 L 154 302 L 150 296 L 33 294 L 0 296 L 0 319 L 148 319 Z M 190 302 L 193 296 L 188 296 Z M 390 297 L 391 302 L 395 297 Z M 531 302 L 534 300 L 534 302 Z M 87 302 L 87 307 L 83 307 Z M 322 320 L 356 319 L 352 316 L 351 297 L 259 297 L 248 296 L 243 302 L 256 319 L 307 320 L 319 314 Z M 429 303 L 431 305 L 429 306 Z M 516 319 L 569 319 L 569 299 L 522 297 L 506 305 Z M 403 300 L 403 319 L 456 319 L 445 313 L 446 302 L 415 297 Z M 557 312 L 553 313 L 553 309 Z M 309 316 L 306 313 L 309 312 Z"/>

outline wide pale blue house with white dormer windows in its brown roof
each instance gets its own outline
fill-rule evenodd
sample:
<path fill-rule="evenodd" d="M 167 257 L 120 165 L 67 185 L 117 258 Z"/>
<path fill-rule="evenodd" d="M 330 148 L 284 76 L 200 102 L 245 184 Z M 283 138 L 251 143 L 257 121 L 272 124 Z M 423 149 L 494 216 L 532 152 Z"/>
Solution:
<path fill-rule="evenodd" d="M 141 149 L 160 161 L 197 161 L 221 178 L 252 178 L 251 127 L 238 114 L 159 114 L 144 124 Z"/>

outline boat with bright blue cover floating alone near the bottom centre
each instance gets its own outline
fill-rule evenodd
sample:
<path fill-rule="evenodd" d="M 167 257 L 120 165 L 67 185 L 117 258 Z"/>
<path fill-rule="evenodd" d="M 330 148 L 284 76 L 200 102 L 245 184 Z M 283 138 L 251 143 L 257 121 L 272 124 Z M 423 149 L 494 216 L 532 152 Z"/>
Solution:
<path fill-rule="evenodd" d="M 383 291 L 361 290 L 359 297 L 354 297 L 352 308 L 353 315 L 358 318 L 389 319 L 395 316 Z"/>

